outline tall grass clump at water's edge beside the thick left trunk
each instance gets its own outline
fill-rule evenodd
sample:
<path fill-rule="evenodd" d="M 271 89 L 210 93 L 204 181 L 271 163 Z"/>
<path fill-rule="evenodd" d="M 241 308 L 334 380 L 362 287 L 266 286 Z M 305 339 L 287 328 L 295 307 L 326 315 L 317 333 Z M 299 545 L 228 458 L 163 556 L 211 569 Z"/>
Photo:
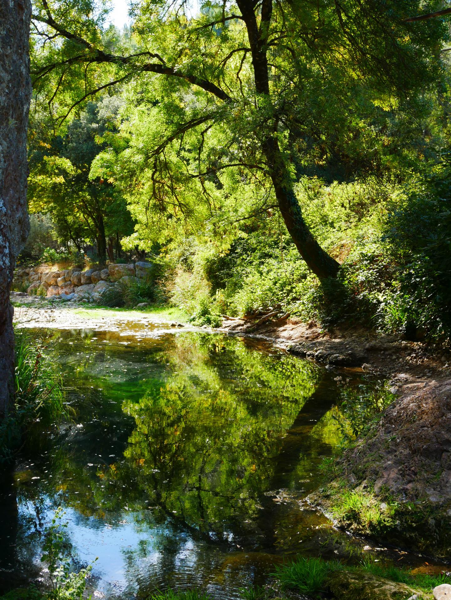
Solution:
<path fill-rule="evenodd" d="M 36 344 L 24 332 L 16 332 L 14 384 L 14 405 L 0 425 L 0 462 L 40 440 L 43 432 L 49 433 L 67 416 L 61 374 L 45 341 Z"/>

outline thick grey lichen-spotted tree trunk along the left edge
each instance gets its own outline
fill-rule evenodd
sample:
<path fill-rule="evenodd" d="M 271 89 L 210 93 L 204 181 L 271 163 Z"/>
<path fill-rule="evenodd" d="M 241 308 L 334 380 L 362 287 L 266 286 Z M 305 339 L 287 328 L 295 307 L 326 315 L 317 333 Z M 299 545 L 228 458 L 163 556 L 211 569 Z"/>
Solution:
<path fill-rule="evenodd" d="M 0 2 L 0 418 L 14 394 L 10 287 L 28 235 L 26 128 L 31 98 L 29 0 Z"/>

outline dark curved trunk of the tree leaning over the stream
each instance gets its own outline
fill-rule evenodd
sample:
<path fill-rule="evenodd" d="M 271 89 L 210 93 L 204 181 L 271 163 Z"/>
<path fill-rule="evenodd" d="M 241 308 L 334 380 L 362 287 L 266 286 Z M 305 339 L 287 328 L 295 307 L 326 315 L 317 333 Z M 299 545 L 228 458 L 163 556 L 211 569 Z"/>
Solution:
<path fill-rule="evenodd" d="M 244 23 L 246 23 L 247 37 L 252 53 L 255 91 L 257 95 L 271 101 L 266 44 L 273 12 L 273 2 L 272 0 L 262 0 L 260 26 L 258 26 L 256 20 L 253 2 L 237 0 L 237 4 L 243 15 Z M 268 106 L 267 101 L 264 102 L 264 106 Z M 313 238 L 302 216 L 285 157 L 283 157 L 279 142 L 277 142 L 275 123 L 273 134 L 264 137 L 262 140 L 262 150 L 274 185 L 280 213 L 300 255 L 307 266 L 320 279 L 336 277 L 340 265 L 327 252 L 322 250 L 316 239 Z"/>

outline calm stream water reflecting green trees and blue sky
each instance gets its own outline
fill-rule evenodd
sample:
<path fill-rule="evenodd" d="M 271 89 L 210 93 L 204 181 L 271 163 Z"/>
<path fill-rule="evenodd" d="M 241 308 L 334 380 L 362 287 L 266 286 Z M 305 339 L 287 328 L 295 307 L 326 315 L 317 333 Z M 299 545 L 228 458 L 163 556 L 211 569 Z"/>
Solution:
<path fill-rule="evenodd" d="M 30 331 L 39 339 L 43 332 Z M 37 580 L 42 532 L 65 509 L 94 597 L 200 587 L 235 598 L 293 554 L 349 556 L 304 498 L 382 382 L 329 372 L 262 343 L 179 332 L 50 333 L 73 415 L 19 458 L 0 491 L 0 592 Z"/>

